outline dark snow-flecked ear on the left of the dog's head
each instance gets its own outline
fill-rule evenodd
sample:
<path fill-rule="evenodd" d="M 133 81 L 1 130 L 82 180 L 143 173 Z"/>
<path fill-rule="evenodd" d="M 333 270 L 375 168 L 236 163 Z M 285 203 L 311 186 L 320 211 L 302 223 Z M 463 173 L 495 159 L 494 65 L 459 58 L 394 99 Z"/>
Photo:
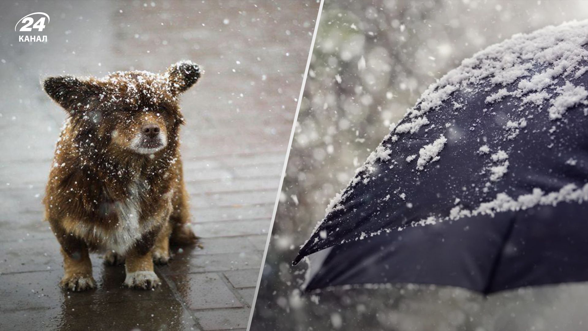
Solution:
<path fill-rule="evenodd" d="M 73 76 L 49 77 L 43 81 L 43 89 L 55 102 L 72 115 L 101 93 L 98 85 Z"/>

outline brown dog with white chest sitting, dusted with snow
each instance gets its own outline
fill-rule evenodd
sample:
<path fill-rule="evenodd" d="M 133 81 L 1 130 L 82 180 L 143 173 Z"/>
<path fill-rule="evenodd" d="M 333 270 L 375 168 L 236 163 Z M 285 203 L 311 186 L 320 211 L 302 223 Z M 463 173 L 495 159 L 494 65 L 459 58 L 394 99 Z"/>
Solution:
<path fill-rule="evenodd" d="M 61 244 L 60 285 L 95 287 L 89 251 L 125 261 L 125 285 L 159 285 L 153 262 L 169 260 L 169 240 L 193 243 L 179 153 L 178 96 L 200 77 L 178 62 L 163 74 L 50 77 L 44 89 L 69 114 L 56 145 L 44 198 Z"/>

